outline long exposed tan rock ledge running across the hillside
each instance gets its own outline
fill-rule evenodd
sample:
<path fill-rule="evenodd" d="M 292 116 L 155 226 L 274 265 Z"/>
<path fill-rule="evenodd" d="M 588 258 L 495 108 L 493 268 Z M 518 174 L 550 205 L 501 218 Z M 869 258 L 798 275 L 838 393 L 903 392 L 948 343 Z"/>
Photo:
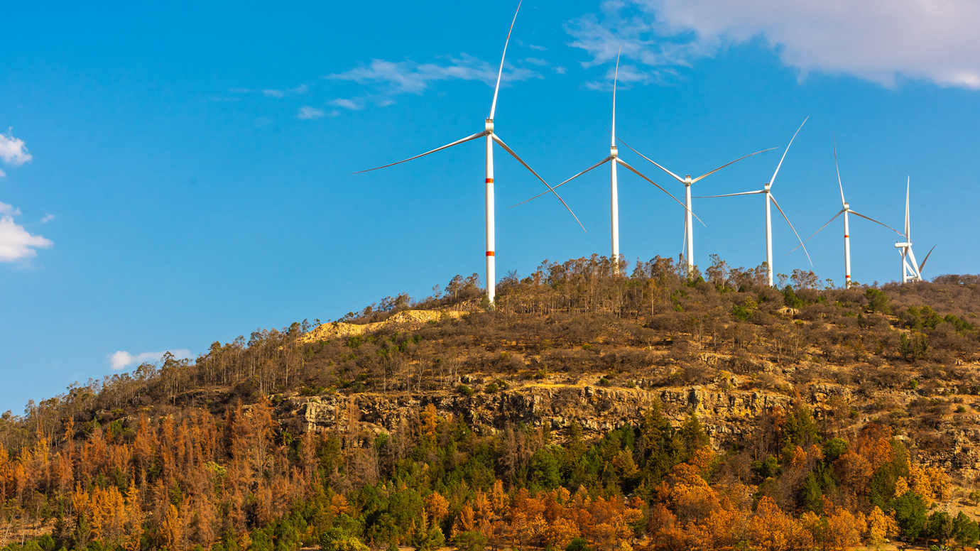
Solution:
<path fill-rule="evenodd" d="M 660 400 L 663 414 L 679 425 L 694 413 L 706 430 L 723 444 L 752 431 L 763 410 L 788 407 L 790 398 L 757 391 L 714 391 L 702 386 L 607 388 L 589 385 L 526 385 L 493 394 L 465 396 L 457 392 L 403 392 L 389 394 L 339 394 L 288 399 L 294 415 L 306 430 L 338 430 L 351 426 L 351 416 L 363 428 L 390 432 L 403 421 L 418 419 L 428 404 L 439 415 L 462 418 L 479 433 L 494 433 L 509 425 L 548 426 L 559 437 L 572 421 L 589 436 L 600 436 L 627 423 L 637 424 L 646 410 Z"/>

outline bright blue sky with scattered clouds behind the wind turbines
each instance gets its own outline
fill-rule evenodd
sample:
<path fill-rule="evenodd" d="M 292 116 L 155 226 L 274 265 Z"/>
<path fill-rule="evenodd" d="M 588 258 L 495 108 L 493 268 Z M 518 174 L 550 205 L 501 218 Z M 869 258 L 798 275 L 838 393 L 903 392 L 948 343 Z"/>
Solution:
<path fill-rule="evenodd" d="M 619 137 L 684 175 L 785 147 L 773 191 L 801 234 L 852 207 L 903 223 L 924 275 L 980 272 L 980 9 L 951 0 L 525 1 L 496 130 L 552 183 Z M 831 5 L 834 4 L 834 5 Z M 21 3 L 0 59 L 0 411 L 165 350 L 483 272 L 482 148 L 365 175 L 482 130 L 506 3 Z M 937 31 L 941 29 L 941 31 Z M 11 128 L 7 130 L 7 128 Z M 621 150 L 623 148 L 620 148 Z M 565 185 L 588 229 L 497 150 L 498 275 L 609 254 L 608 170 Z M 780 151 L 695 184 L 757 189 Z M 622 157 L 677 196 L 683 186 Z M 619 173 L 620 249 L 676 257 L 683 210 Z M 760 197 L 695 202 L 695 261 L 764 260 Z M 808 244 L 843 280 L 840 220 Z M 774 223 L 775 270 L 810 269 Z M 900 276 L 894 234 L 852 220 L 853 275 Z"/>

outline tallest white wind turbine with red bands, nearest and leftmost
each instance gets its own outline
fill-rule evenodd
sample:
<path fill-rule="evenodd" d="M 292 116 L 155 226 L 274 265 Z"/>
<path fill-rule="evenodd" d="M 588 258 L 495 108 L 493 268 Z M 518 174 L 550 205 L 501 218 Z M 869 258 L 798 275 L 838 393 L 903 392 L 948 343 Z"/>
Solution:
<path fill-rule="evenodd" d="M 367 171 L 359 171 L 357 173 L 354 173 L 354 174 L 357 175 L 357 174 L 361 174 L 361 173 L 368 173 L 370 171 L 376 171 L 378 169 L 385 169 L 387 167 L 393 167 L 395 165 L 400 165 L 402 163 L 407 163 L 407 162 L 412 161 L 414 159 L 417 159 L 419 157 L 424 157 L 425 155 L 428 155 L 430 153 L 435 153 L 436 151 L 441 151 L 443 149 L 447 149 L 447 148 L 453 147 L 454 145 L 460 145 L 461 143 L 466 143 L 467 141 L 471 141 L 471 140 L 474 140 L 474 139 L 481 138 L 481 137 L 484 137 L 485 136 L 486 137 L 486 165 L 485 165 L 485 168 L 486 168 L 486 182 L 485 182 L 486 183 L 486 187 L 485 187 L 485 191 L 486 191 L 486 263 L 487 263 L 487 265 L 486 265 L 486 275 L 487 275 L 487 300 L 490 301 L 490 304 L 491 305 L 493 304 L 494 296 L 497 294 L 496 293 L 496 288 L 495 288 L 497 286 L 497 275 L 496 275 L 496 262 L 495 262 L 496 261 L 496 256 L 495 256 L 496 255 L 496 250 L 495 250 L 495 247 L 496 247 L 496 243 L 495 243 L 496 228 L 494 226 L 493 142 L 497 142 L 498 144 L 500 144 L 500 146 L 504 148 L 504 151 L 507 151 L 508 153 L 510 153 L 511 156 L 514 157 L 517 160 L 518 163 L 520 163 L 521 165 L 523 165 L 524 168 L 527 169 L 528 171 L 530 171 L 532 175 L 535 175 L 535 177 L 537 177 L 539 180 L 541 180 L 541 182 L 544 183 L 548 187 L 548 191 L 546 191 L 546 193 L 554 193 L 555 196 L 558 197 L 558 200 L 559 201 L 562 201 L 562 204 L 564 205 L 564 208 L 567 209 L 569 213 L 571 213 L 571 216 L 572 217 L 574 217 L 575 222 L 578 222 L 578 225 L 582 225 L 582 223 L 578 221 L 578 217 L 575 216 L 575 213 L 572 213 L 571 212 L 571 209 L 568 207 L 568 205 L 565 204 L 564 199 L 562 199 L 562 197 L 558 194 L 558 192 L 555 191 L 555 188 L 553 188 L 551 185 L 548 185 L 548 182 L 545 181 L 544 178 L 542 178 L 540 175 L 538 175 L 537 173 L 535 173 L 534 170 L 531 169 L 527 165 L 527 163 L 525 163 L 520 157 L 517 156 L 517 154 L 514 152 L 513 149 L 511 149 L 510 147 L 508 147 L 508 145 L 506 143 L 504 143 L 504 140 L 500 139 L 500 137 L 498 137 L 497 134 L 494 133 L 493 117 L 494 117 L 494 113 L 497 110 L 497 94 L 500 91 L 500 78 L 501 78 L 501 75 L 504 74 L 504 60 L 507 58 L 507 45 L 511 41 L 511 31 L 514 30 L 514 24 L 517 21 L 517 12 L 519 12 L 519 11 L 520 11 L 520 2 L 517 2 L 517 10 L 514 13 L 514 21 L 511 22 L 511 29 L 507 31 L 507 40 L 504 41 L 504 55 L 501 56 L 501 58 L 500 58 L 500 71 L 497 72 L 497 85 L 494 87 L 494 90 L 493 90 L 493 103 L 490 104 L 490 117 L 487 118 L 484 121 L 484 123 L 483 123 L 483 131 L 477 132 L 477 133 L 472 134 L 472 135 L 469 135 L 469 136 L 466 136 L 463 139 L 458 139 L 458 140 L 454 141 L 453 143 L 446 144 L 446 145 L 444 145 L 442 147 L 437 147 L 437 148 L 435 148 L 435 149 L 433 149 L 431 151 L 426 151 L 425 153 L 422 153 L 421 155 L 416 155 L 415 157 L 410 157 L 410 158 L 408 158 L 408 159 L 406 159 L 404 161 L 399 161 L 398 163 L 391 163 L 390 165 L 384 165 L 382 167 L 376 167 L 374 169 L 368 169 Z M 584 225 L 582 225 L 582 229 L 583 230 L 585 229 L 585 226 Z"/>

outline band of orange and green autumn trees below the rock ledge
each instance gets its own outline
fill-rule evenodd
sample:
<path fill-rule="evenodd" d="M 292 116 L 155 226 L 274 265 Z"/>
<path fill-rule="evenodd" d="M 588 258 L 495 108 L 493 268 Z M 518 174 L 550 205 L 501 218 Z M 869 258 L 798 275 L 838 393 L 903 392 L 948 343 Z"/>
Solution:
<path fill-rule="evenodd" d="M 355 408 L 351 402 L 351 408 Z M 821 434 L 808 409 L 770 410 L 716 453 L 698 419 L 659 405 L 594 444 L 544 428 L 480 436 L 431 404 L 392 433 L 357 424 L 294 436 L 270 403 L 73 426 L 0 449 L 5 551 L 845 550 L 899 534 L 976 543 L 942 471 L 888 427 Z M 751 449 L 750 449 L 751 448 Z M 50 530 L 50 531 L 48 531 Z M 39 535 L 43 533 L 43 535 Z M 30 534 L 30 535 L 28 535 Z M 38 536 L 39 535 L 39 536 Z"/>

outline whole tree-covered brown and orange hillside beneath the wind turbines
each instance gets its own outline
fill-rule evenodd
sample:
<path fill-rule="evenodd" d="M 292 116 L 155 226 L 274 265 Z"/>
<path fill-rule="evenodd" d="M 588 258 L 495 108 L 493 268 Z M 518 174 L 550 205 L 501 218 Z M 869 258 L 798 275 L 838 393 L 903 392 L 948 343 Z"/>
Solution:
<path fill-rule="evenodd" d="M 975 544 L 980 276 L 712 260 L 546 261 L 494 308 L 457 276 L 74 384 L 0 419 L 0 546 Z"/>

